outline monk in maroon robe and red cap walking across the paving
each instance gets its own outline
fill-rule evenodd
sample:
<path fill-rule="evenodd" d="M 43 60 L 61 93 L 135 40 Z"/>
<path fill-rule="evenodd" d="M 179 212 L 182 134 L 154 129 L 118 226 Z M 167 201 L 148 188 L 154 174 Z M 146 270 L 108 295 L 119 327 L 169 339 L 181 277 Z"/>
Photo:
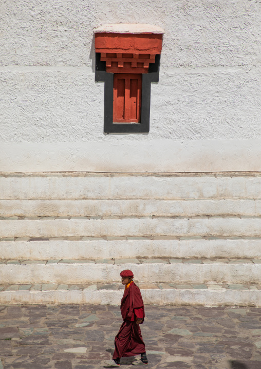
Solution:
<path fill-rule="evenodd" d="M 123 298 L 121 300 L 121 315 L 123 323 L 118 335 L 115 337 L 115 352 L 112 360 L 105 361 L 111 367 L 120 366 L 120 358 L 136 356 L 141 358 L 133 362 L 134 365 L 147 365 L 145 344 L 142 340 L 139 324 L 144 321 L 144 304 L 139 287 L 133 282 L 133 272 L 123 270 L 121 272 L 121 283 L 125 285 Z"/>

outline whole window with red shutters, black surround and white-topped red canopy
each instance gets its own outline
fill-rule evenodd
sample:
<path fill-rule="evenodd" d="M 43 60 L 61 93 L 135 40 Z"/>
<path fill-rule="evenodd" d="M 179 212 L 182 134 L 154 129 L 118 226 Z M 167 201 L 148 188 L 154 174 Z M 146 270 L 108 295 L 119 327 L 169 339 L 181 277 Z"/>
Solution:
<path fill-rule="evenodd" d="M 150 131 L 151 83 L 159 82 L 163 33 L 148 24 L 95 29 L 95 82 L 104 82 L 104 133 Z"/>

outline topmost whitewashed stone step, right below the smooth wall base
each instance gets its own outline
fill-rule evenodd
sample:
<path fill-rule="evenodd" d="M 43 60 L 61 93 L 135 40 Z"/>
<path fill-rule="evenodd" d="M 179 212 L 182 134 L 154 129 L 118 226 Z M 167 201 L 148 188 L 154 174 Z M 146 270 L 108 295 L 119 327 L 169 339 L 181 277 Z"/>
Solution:
<path fill-rule="evenodd" d="M 261 199 L 261 177 L 0 177 L 1 199 Z"/>

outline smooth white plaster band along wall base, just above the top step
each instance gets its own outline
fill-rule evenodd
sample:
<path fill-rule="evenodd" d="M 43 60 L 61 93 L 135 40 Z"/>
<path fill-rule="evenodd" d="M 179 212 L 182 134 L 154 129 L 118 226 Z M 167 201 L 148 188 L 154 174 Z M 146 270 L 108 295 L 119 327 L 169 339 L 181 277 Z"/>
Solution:
<path fill-rule="evenodd" d="M 261 171 L 261 139 L 134 141 L 130 136 L 122 135 L 122 141 L 113 141 L 116 137 L 105 137 L 103 141 L 97 142 L 0 142 L 0 171 Z"/>

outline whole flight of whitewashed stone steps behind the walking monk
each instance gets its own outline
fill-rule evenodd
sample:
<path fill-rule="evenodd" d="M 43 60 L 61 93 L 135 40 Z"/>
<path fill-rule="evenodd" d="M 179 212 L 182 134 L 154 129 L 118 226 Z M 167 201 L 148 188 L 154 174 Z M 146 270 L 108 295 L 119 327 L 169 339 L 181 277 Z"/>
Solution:
<path fill-rule="evenodd" d="M 261 306 L 258 174 L 2 173 L 0 304 Z"/>

